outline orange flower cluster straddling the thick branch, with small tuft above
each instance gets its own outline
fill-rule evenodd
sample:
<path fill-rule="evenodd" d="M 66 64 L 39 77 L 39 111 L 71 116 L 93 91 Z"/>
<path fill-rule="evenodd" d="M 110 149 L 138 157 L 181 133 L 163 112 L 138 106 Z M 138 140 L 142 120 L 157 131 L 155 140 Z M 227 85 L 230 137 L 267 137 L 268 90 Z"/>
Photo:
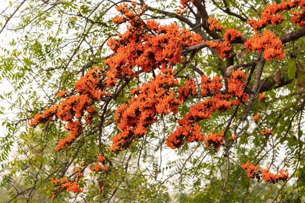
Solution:
<path fill-rule="evenodd" d="M 221 26 L 215 18 L 210 18 L 209 21 L 212 23 L 210 29 L 221 30 L 225 27 Z M 223 41 L 212 42 L 206 41 L 206 45 L 210 48 L 216 49 L 216 52 L 220 54 L 220 58 L 226 58 L 232 56 L 232 45 L 239 41 L 243 37 L 243 34 L 236 29 L 226 29 Z"/>

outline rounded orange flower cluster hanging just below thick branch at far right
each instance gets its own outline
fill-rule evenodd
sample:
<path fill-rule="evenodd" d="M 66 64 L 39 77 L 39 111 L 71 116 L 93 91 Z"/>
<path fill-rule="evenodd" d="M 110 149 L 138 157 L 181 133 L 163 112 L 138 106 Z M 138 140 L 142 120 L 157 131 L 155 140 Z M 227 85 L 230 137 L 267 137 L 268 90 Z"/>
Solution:
<path fill-rule="evenodd" d="M 282 41 L 271 31 L 263 31 L 262 35 L 255 33 L 252 38 L 247 39 L 245 47 L 247 51 L 253 50 L 258 53 L 264 51 L 264 58 L 268 61 L 272 58 L 282 60 L 285 56 Z"/>

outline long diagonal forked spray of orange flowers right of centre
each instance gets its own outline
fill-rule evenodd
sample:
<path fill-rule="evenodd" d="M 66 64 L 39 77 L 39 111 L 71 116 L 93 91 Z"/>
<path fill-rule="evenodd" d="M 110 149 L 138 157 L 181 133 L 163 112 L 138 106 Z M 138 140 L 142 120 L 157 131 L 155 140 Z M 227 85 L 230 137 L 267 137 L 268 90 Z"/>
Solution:
<path fill-rule="evenodd" d="M 176 131 L 171 133 L 169 138 L 166 139 L 168 147 L 175 149 L 180 148 L 184 144 L 184 140 L 188 142 L 202 142 L 206 141 L 206 146 L 212 145 L 216 150 L 220 145 L 223 145 L 223 132 L 219 134 L 211 133 L 208 136 L 203 136 L 200 132 L 201 126 L 196 124 L 203 119 L 209 119 L 210 115 L 216 110 L 223 113 L 227 109 L 232 107 L 232 104 L 239 104 L 240 101 L 246 102 L 249 95 L 243 92 L 246 82 L 242 79 L 247 75 L 243 71 L 233 71 L 232 76 L 228 79 L 229 93 L 222 95 L 218 93 L 219 89 L 223 87 L 222 78 L 214 77 L 212 80 L 205 75 L 201 77 L 200 86 L 202 87 L 201 94 L 212 94 L 212 98 L 207 98 L 204 101 L 200 101 L 198 104 L 190 108 L 190 111 L 186 113 L 185 117 L 178 120 L 178 126 Z M 242 90 L 242 93 L 240 92 Z M 229 100 L 231 97 L 237 97 L 233 101 Z"/>

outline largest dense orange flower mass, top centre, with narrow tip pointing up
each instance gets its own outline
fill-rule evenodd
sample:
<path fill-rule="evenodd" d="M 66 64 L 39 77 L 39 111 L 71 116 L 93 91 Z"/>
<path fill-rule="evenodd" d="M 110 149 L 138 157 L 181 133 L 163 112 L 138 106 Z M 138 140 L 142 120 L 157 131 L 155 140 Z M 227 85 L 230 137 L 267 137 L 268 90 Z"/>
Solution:
<path fill-rule="evenodd" d="M 118 39 L 110 38 L 107 42 L 115 53 L 104 61 L 110 67 L 107 73 L 108 87 L 114 86 L 118 79 L 137 77 L 132 69 L 134 66 L 140 67 L 144 72 L 150 72 L 154 69 L 165 69 L 168 63 L 182 62 L 182 49 L 202 42 L 198 34 L 195 35 L 185 28 L 179 29 L 173 23 L 164 26 L 155 20 L 145 23 L 140 19 L 142 10 L 135 13 L 135 5 L 120 6 L 121 17 L 128 20 L 130 25 L 124 34 L 119 33 Z"/>

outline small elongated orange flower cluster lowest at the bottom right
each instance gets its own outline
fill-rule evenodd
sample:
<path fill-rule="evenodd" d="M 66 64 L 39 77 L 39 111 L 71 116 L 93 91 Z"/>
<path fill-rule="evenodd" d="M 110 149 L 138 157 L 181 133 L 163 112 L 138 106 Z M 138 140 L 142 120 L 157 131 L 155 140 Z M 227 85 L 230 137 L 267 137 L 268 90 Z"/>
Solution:
<path fill-rule="evenodd" d="M 262 177 L 267 183 L 277 183 L 279 180 L 287 181 L 289 178 L 288 172 L 285 173 L 283 169 L 280 170 L 280 174 L 273 174 L 269 173 L 269 166 L 263 170 L 258 170 L 258 164 L 254 166 L 249 161 L 247 163 L 242 163 L 241 167 L 243 170 L 247 171 L 249 178 L 256 178 L 259 180 Z"/>

